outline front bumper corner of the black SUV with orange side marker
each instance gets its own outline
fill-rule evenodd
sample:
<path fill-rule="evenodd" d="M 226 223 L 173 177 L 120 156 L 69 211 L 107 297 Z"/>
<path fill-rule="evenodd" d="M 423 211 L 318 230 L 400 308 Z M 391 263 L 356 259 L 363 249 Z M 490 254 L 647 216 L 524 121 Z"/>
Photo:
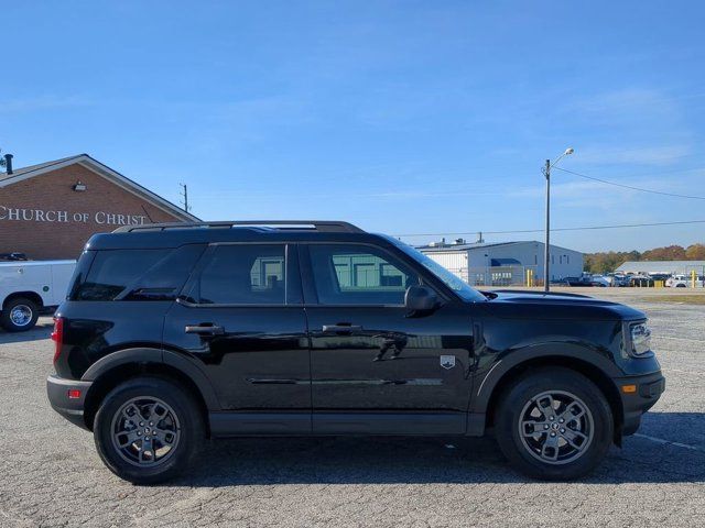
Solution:
<path fill-rule="evenodd" d="M 659 371 L 641 376 L 620 377 L 615 382 L 623 409 L 621 433 L 633 435 L 639 429 L 641 416 L 653 407 L 665 391 L 665 377 Z M 636 387 L 633 391 L 632 386 Z"/>

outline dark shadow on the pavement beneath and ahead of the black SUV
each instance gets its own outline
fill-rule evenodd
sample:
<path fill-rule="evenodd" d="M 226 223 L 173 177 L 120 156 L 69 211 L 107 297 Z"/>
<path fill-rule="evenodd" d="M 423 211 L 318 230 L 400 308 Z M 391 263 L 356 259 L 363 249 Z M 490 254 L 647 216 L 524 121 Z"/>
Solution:
<path fill-rule="evenodd" d="M 680 430 L 687 430 L 683 437 Z M 584 484 L 705 481 L 705 415 L 651 413 Z M 666 443 L 660 441 L 664 440 Z M 668 442 L 680 442 L 676 446 Z M 699 442 L 699 443 L 696 443 Z M 183 486 L 535 482 L 490 438 L 258 438 L 207 442 Z"/>

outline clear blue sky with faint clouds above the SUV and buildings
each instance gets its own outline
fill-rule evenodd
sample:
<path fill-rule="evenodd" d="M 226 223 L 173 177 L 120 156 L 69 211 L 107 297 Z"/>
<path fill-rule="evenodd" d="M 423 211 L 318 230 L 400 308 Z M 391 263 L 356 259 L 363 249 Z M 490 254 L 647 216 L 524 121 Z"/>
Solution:
<path fill-rule="evenodd" d="M 540 229 L 566 146 L 567 169 L 705 196 L 702 2 L 0 6 L 15 166 L 87 152 L 174 202 L 187 183 L 204 219 Z M 703 200 L 553 182 L 554 227 L 705 220 Z M 687 245 L 705 223 L 553 241 Z"/>

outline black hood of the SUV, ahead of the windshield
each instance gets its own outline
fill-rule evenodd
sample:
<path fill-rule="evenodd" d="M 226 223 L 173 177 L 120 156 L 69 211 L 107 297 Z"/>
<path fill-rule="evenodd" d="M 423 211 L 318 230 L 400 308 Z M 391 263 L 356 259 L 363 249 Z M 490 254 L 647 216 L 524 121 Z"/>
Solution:
<path fill-rule="evenodd" d="M 619 302 L 595 299 L 577 294 L 545 294 L 543 292 L 486 292 L 490 299 L 484 302 L 496 317 L 508 319 L 577 319 L 633 320 L 647 316 Z"/>

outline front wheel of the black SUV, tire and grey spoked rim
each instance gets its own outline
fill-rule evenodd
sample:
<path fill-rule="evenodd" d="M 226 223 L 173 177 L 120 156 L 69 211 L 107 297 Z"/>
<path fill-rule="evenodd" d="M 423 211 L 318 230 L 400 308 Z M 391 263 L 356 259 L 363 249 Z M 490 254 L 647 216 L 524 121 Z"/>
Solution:
<path fill-rule="evenodd" d="M 551 394 L 552 399 L 547 399 Z M 545 396 L 536 398 L 540 395 Z M 571 402 L 572 398 L 575 405 L 567 405 L 571 413 L 583 407 L 586 409 L 579 419 L 572 418 L 561 407 L 565 405 L 562 402 Z M 550 408 L 549 402 L 551 406 L 554 403 L 558 405 L 555 413 L 539 410 L 542 405 Z M 528 414 L 530 409 L 538 418 Z M 553 415 L 553 418 L 547 415 Z M 558 425 L 561 416 L 567 422 Z M 529 425 L 531 421 L 540 427 Z M 565 427 L 568 427 L 567 431 Z M 518 378 L 501 395 L 495 415 L 497 442 L 512 466 L 533 479 L 546 481 L 578 479 L 597 468 L 612 443 L 614 428 L 612 413 L 601 391 L 577 372 L 561 367 L 536 370 Z M 540 432 L 529 435 L 533 430 Z M 588 440 L 579 440 L 576 432 Z M 553 437 L 551 441 L 550 433 Z M 573 437 L 575 447 L 567 442 L 568 437 Z M 557 443 L 554 448 L 551 442 L 565 443 L 561 447 Z M 572 457 L 571 452 L 574 452 Z M 555 460 L 546 460 L 554 455 Z"/>

